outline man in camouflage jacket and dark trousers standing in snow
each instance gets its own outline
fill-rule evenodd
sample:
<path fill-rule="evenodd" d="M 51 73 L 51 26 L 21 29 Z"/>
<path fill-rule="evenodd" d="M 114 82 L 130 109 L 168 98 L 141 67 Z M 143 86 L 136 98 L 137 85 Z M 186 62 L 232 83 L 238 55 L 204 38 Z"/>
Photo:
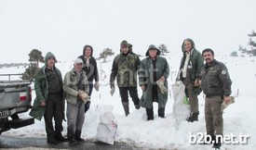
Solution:
<path fill-rule="evenodd" d="M 121 42 L 121 53 L 115 56 L 110 76 L 111 94 L 115 93 L 116 77 L 126 116 L 129 114 L 128 94 L 132 98 L 135 108 L 140 108 L 140 99 L 137 91 L 137 71 L 140 68 L 141 60 L 139 56 L 128 48 L 129 45 L 126 40 Z"/>

